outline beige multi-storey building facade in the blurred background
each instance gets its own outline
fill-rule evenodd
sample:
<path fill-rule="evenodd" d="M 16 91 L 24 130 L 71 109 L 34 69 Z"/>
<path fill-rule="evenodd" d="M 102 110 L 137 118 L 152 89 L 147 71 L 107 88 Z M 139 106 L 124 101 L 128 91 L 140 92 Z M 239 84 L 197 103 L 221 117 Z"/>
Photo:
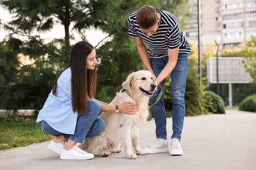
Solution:
<path fill-rule="evenodd" d="M 198 17 L 200 1 L 200 18 Z M 254 0 L 190 0 L 192 18 L 184 32 L 188 41 L 198 41 L 200 20 L 200 44 L 216 42 L 219 47 L 241 47 L 256 36 L 256 1 Z"/>

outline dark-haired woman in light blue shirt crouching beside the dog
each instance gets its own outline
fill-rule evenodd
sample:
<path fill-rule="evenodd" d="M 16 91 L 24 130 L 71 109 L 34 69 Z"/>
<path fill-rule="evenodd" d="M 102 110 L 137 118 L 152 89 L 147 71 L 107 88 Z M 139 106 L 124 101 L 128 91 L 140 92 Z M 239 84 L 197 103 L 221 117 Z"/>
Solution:
<path fill-rule="evenodd" d="M 70 65 L 56 78 L 36 120 L 43 131 L 54 136 L 47 148 L 60 154 L 61 160 L 94 158 L 93 154 L 81 150 L 77 143 L 83 143 L 85 137 L 93 137 L 105 129 L 104 120 L 98 118 L 100 111 L 119 109 L 120 112 L 135 114 L 139 108 L 131 102 L 110 106 L 94 99 L 95 56 L 95 48 L 89 42 L 74 45 Z"/>

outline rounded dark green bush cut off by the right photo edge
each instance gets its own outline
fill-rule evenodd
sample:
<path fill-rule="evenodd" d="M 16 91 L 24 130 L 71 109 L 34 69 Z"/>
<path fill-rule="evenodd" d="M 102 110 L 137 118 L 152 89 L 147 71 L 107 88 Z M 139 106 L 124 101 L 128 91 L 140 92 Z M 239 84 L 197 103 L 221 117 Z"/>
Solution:
<path fill-rule="evenodd" d="M 249 95 L 243 99 L 238 109 L 247 112 L 256 112 L 256 94 Z"/>

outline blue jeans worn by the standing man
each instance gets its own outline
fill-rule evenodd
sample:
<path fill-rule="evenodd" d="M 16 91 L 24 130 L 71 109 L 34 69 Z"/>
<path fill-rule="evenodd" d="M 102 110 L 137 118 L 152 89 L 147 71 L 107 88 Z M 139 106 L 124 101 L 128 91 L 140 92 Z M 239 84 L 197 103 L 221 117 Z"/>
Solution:
<path fill-rule="evenodd" d="M 163 58 L 150 58 L 150 65 L 156 76 L 160 75 L 168 60 L 168 56 Z M 179 54 L 175 69 L 171 72 L 171 101 L 173 103 L 173 135 L 171 135 L 171 139 L 176 138 L 181 140 L 185 116 L 184 92 L 186 88 L 187 69 L 188 54 Z M 164 92 L 165 80 L 160 82 L 160 84 L 163 86 Z M 158 88 L 158 90 L 150 97 L 151 104 L 155 103 L 159 93 L 160 88 Z M 167 139 L 166 114 L 163 95 L 164 93 L 161 95 L 158 103 L 156 103 L 152 108 L 152 112 L 156 124 L 156 138 Z"/>

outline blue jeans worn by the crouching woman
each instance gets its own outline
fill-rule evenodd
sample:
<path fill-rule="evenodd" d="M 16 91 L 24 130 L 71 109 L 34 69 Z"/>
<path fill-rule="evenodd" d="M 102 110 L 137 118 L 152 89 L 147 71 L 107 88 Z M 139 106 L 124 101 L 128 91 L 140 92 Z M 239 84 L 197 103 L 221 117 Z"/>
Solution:
<path fill-rule="evenodd" d="M 88 101 L 88 110 L 87 113 L 83 115 L 77 115 L 77 123 L 75 126 L 74 135 L 60 133 L 49 126 L 44 120 L 41 121 L 41 128 L 43 131 L 50 135 L 60 136 L 63 135 L 68 141 L 71 139 L 77 143 L 83 143 L 85 137 L 93 137 L 100 134 L 105 129 L 105 122 L 102 118 L 98 118 L 100 114 L 100 107 L 96 104 L 97 101 L 89 100 Z M 70 122 L 72 123 L 72 122 Z"/>

